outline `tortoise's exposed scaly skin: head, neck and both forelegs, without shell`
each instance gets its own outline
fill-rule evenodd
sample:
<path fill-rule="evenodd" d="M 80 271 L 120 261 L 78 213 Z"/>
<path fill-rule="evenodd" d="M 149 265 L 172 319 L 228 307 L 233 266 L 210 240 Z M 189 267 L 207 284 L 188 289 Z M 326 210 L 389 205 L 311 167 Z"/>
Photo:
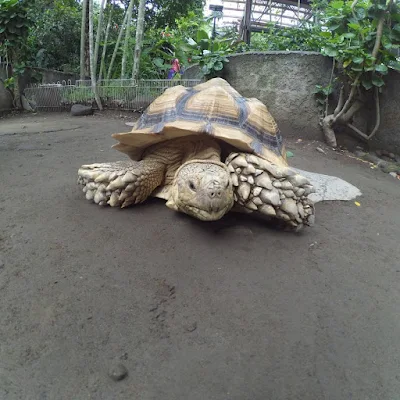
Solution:
<path fill-rule="evenodd" d="M 154 196 L 202 221 L 232 210 L 296 229 L 314 223 L 308 199 L 314 189 L 305 177 L 255 154 L 231 152 L 222 163 L 219 144 L 204 135 L 157 143 L 140 161 L 82 165 L 78 183 L 86 199 L 101 206 L 125 208 Z"/>

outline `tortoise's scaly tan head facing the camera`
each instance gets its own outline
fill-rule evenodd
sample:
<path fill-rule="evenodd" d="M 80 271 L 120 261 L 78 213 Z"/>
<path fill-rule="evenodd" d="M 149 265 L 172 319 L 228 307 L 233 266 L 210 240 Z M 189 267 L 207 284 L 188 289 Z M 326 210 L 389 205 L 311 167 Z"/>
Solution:
<path fill-rule="evenodd" d="M 215 221 L 233 203 L 232 182 L 225 164 L 191 160 L 176 171 L 167 206 L 202 221 Z"/>

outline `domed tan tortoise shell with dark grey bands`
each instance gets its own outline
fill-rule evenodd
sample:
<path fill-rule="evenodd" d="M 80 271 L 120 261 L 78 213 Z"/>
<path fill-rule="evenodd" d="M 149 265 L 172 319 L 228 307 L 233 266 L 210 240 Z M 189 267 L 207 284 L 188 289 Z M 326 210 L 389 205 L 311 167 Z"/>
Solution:
<path fill-rule="evenodd" d="M 274 164 L 287 165 L 281 133 L 267 107 L 258 99 L 241 96 L 221 78 L 192 88 L 179 85 L 166 89 L 130 132 L 112 135 L 119 142 L 113 148 L 140 160 L 148 146 L 200 134 Z"/>

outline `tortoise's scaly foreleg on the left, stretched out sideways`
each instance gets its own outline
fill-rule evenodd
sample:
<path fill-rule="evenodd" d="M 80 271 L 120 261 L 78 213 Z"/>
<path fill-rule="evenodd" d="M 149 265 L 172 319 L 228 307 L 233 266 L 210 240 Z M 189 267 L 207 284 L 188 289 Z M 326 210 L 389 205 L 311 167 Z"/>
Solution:
<path fill-rule="evenodd" d="M 86 199 L 99 205 L 127 207 L 145 201 L 164 180 L 165 166 L 152 160 L 82 165 L 78 184 Z"/>

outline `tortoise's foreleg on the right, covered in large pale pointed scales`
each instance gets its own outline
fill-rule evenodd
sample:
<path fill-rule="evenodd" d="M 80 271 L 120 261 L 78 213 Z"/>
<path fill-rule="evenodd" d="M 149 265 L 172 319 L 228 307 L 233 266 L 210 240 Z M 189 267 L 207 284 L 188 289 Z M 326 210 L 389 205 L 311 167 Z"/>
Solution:
<path fill-rule="evenodd" d="M 253 154 L 231 153 L 226 165 L 234 186 L 236 211 L 260 213 L 296 228 L 314 224 L 314 205 L 307 198 L 314 188 L 305 177 Z"/>

